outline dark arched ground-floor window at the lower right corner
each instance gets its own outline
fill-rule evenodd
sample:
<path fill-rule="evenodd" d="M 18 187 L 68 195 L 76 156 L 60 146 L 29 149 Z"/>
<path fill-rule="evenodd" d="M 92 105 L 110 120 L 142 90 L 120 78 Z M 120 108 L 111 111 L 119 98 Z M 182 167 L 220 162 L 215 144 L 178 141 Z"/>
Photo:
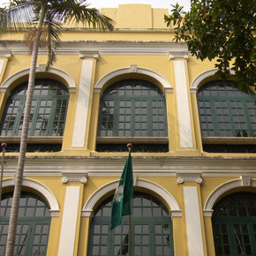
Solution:
<path fill-rule="evenodd" d="M 256 255 L 256 194 L 237 192 L 220 200 L 212 218 L 216 255 Z"/>

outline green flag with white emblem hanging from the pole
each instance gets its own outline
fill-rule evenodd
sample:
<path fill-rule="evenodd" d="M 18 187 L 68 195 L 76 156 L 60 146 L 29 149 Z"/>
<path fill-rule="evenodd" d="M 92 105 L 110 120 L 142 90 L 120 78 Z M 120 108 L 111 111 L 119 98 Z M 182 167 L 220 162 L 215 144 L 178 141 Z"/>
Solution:
<path fill-rule="evenodd" d="M 133 177 L 132 177 L 132 156 L 129 156 L 124 165 L 124 170 L 120 178 L 117 190 L 112 201 L 111 227 L 113 230 L 121 224 L 122 216 L 131 215 L 131 199 L 133 197 Z"/>

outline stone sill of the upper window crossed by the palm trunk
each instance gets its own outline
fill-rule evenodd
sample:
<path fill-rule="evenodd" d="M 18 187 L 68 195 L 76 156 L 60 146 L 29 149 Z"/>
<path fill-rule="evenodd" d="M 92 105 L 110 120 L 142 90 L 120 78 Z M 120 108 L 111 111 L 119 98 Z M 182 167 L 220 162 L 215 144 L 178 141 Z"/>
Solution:
<path fill-rule="evenodd" d="M 20 143 L 20 136 L 0 136 L 1 143 Z M 28 136 L 28 144 L 62 144 L 63 136 Z"/>

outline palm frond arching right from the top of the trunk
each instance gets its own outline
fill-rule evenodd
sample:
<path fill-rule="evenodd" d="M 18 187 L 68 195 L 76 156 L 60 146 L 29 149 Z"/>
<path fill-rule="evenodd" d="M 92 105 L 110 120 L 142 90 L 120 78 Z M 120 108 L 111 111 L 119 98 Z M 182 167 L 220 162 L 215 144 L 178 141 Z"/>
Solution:
<path fill-rule="evenodd" d="M 88 8 L 87 1 L 60 0 L 51 2 L 50 14 L 62 22 L 76 22 L 99 28 L 101 31 L 113 30 L 114 22 L 95 8 Z"/>

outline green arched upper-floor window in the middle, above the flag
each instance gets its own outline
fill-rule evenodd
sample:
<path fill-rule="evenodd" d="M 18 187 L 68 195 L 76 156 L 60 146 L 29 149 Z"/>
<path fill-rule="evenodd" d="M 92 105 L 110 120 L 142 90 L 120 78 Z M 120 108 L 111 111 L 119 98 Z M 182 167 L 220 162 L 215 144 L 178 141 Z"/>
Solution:
<path fill-rule="evenodd" d="M 151 82 L 128 79 L 102 95 L 99 137 L 166 137 L 166 107 L 162 91 Z"/>

